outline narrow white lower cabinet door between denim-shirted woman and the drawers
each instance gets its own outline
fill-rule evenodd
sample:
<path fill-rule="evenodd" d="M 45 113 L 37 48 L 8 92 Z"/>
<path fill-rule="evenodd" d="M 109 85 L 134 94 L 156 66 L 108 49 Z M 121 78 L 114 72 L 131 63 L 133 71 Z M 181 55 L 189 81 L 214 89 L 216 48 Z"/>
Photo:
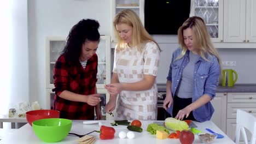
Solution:
<path fill-rule="evenodd" d="M 216 93 L 216 97 L 211 100 L 214 107 L 214 113 L 211 121 L 226 133 L 226 99 L 227 93 Z"/>

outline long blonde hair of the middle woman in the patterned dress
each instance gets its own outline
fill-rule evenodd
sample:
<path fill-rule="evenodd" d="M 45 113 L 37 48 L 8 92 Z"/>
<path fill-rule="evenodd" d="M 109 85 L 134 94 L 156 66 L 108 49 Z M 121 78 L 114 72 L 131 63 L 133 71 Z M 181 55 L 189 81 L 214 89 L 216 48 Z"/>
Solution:
<path fill-rule="evenodd" d="M 117 43 L 117 49 L 124 49 L 125 41 L 120 37 L 116 25 L 119 23 L 125 23 L 126 25 L 129 25 L 132 27 L 132 47 L 137 47 L 139 51 L 142 51 L 143 43 L 147 43 L 148 41 L 154 41 L 156 45 L 156 41 L 149 35 L 149 33 L 146 31 L 144 26 L 142 25 L 141 20 L 139 19 L 138 15 L 130 9 L 125 9 L 120 11 L 115 17 L 113 21 L 114 26 L 114 32 L 118 39 Z M 160 47 L 158 45 L 158 48 L 160 50 Z M 160 50 L 161 51 L 161 50 Z"/>

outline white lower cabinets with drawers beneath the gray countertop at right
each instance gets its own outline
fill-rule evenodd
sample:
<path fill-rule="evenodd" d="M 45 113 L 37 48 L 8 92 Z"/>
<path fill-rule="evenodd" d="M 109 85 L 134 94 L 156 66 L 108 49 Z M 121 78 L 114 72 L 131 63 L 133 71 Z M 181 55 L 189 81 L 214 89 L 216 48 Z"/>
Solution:
<path fill-rule="evenodd" d="M 256 116 L 256 93 L 216 93 L 211 103 L 215 110 L 211 121 L 232 140 L 235 136 L 236 110 L 241 109 Z"/>

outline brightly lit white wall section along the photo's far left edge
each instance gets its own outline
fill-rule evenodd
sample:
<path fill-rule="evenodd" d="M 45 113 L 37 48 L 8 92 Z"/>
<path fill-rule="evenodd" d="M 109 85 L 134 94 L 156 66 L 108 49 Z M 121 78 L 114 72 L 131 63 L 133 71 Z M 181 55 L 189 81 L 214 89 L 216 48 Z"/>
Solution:
<path fill-rule="evenodd" d="M 0 114 L 11 104 L 28 101 L 27 1 L 0 2 Z"/>

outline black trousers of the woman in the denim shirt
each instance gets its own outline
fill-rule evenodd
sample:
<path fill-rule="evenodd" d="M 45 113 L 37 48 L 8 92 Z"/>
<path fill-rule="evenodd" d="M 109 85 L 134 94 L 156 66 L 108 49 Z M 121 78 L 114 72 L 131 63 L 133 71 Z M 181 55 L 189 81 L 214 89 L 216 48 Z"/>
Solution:
<path fill-rule="evenodd" d="M 179 110 L 184 109 L 186 106 L 190 105 L 191 103 L 192 103 L 192 98 L 183 99 L 183 98 L 179 98 L 177 95 L 174 95 L 172 116 L 176 117 Z M 184 116 L 183 120 L 196 121 L 192 111 L 189 113 L 189 116 L 187 118 L 186 116 Z"/>

